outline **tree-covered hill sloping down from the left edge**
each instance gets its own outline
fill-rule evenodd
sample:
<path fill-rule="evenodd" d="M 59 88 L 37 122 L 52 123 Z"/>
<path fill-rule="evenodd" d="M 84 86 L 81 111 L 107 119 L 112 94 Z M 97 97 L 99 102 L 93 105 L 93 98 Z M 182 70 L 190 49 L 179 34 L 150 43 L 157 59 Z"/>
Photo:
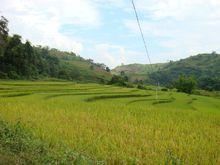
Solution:
<path fill-rule="evenodd" d="M 0 79 L 59 78 L 86 82 L 105 82 L 110 69 L 73 52 L 22 42 L 19 35 L 8 35 L 8 21 L 0 19 Z"/>

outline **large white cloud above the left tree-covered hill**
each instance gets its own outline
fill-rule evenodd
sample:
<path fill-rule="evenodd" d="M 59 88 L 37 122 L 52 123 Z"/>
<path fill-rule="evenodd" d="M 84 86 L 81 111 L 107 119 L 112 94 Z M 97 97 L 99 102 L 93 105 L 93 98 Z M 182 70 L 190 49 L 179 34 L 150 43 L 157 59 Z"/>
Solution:
<path fill-rule="evenodd" d="M 48 45 L 79 53 L 83 46 L 76 38 L 60 32 L 65 24 L 96 27 L 99 13 L 89 0 L 1 0 L 2 13 L 10 21 L 11 33 L 18 33 L 34 44 Z"/>

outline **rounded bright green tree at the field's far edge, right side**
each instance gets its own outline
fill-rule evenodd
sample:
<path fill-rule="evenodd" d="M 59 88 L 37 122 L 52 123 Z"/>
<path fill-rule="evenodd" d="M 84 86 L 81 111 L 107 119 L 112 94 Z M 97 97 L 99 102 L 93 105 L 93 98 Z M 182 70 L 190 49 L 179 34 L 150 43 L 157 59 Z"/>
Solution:
<path fill-rule="evenodd" d="M 186 77 L 185 75 L 180 75 L 179 79 L 174 82 L 174 87 L 178 92 L 184 92 L 191 94 L 196 86 L 196 80 L 194 77 Z"/>

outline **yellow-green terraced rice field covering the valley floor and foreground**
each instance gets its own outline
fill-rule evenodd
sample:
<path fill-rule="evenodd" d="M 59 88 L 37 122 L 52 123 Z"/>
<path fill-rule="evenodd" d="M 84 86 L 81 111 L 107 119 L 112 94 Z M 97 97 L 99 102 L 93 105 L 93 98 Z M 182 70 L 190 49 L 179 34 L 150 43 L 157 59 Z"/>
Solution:
<path fill-rule="evenodd" d="M 220 164 L 219 98 L 160 91 L 156 101 L 150 89 L 0 81 L 0 117 L 0 161 L 50 164 L 56 154 L 58 164 Z M 13 135 L 23 129 L 38 140 Z M 33 159 L 32 141 L 47 146 Z M 42 161 L 41 152 L 51 154 Z"/>

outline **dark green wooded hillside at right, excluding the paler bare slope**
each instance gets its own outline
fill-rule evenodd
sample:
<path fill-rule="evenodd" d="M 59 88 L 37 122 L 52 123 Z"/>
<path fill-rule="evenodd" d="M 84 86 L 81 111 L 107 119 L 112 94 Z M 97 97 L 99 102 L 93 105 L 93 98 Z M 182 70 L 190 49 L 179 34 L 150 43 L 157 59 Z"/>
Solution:
<path fill-rule="evenodd" d="M 150 75 L 152 80 L 159 80 L 161 84 L 168 85 L 177 79 L 180 74 L 194 76 L 197 79 L 198 87 L 210 90 L 220 88 L 220 55 L 213 52 L 211 54 L 199 54 L 177 62 L 171 62 L 161 71 Z M 212 81 L 210 84 L 206 79 Z"/>

